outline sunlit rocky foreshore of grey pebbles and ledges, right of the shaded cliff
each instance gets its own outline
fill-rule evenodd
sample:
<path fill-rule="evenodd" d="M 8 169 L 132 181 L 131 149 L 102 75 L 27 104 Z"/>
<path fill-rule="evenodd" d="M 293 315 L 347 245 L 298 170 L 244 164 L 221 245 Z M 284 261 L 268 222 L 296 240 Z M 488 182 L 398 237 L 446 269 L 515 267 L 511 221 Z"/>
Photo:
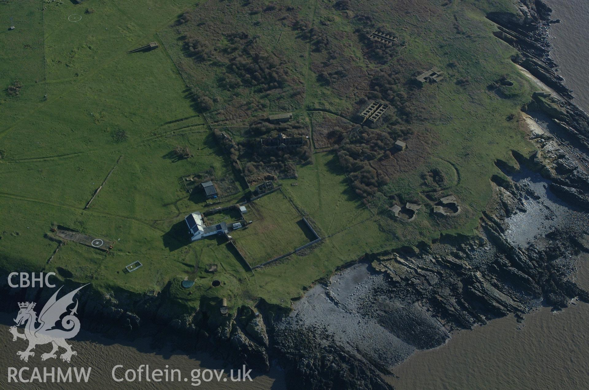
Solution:
<path fill-rule="evenodd" d="M 533 179 L 492 178 L 495 196 L 479 237 L 442 236 L 433 245 L 365 256 L 307 292 L 274 334 L 298 388 L 389 388 L 380 374 L 394 372 L 416 349 L 444 344 L 451 331 L 508 314 L 521 322 L 538 305 L 589 302 L 569 278 L 575 257 L 589 249 L 589 117 L 571 101 L 550 58 L 548 28 L 557 22 L 551 9 L 528 0 L 518 9 L 488 15 L 498 24 L 495 36 L 517 48 L 522 55 L 513 61 L 558 95 L 534 94 L 522 108 L 550 121 L 550 131 L 531 131 L 539 152 L 514 153 L 519 166 L 497 165 Z M 538 187 L 538 178 L 545 184 Z M 537 225 L 529 239 L 510 228 L 519 215 L 534 220 L 527 229 Z"/>

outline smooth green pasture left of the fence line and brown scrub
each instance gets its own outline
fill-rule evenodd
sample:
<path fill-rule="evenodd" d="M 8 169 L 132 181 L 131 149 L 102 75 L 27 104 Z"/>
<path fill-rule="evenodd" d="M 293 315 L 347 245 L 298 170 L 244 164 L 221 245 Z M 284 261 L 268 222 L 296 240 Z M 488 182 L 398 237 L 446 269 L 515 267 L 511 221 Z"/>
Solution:
<path fill-rule="evenodd" d="M 3 89 L 14 79 L 24 84 L 21 96 L 3 95 L 0 105 L 14 112 L 0 115 L 0 258 L 6 269 L 64 268 L 74 280 L 133 292 L 160 291 L 194 273 L 196 252 L 187 246 L 170 251 L 164 239 L 173 226 L 167 221 L 184 212 L 177 203 L 186 202 L 186 211 L 202 206 L 190 202 L 178 178 L 211 168 L 217 176 L 231 171 L 184 97 L 166 51 L 127 54 L 157 39 L 157 30 L 192 4 L 101 1 L 92 3 L 92 14 L 69 2 L 48 4 L 45 11 L 37 2 L 0 5 L 10 7 L 18 26 L 0 35 L 2 55 L 40 45 L 27 49 L 34 55 L 16 52 L 0 65 Z M 72 14 L 81 20 L 69 21 Z M 29 98 L 34 92 L 40 95 Z M 190 147 L 194 158 L 171 159 L 176 145 Z M 43 238 L 52 223 L 111 239 L 115 248 L 105 255 L 70 243 L 47 265 L 57 246 Z M 143 268 L 124 274 L 135 260 Z"/>

